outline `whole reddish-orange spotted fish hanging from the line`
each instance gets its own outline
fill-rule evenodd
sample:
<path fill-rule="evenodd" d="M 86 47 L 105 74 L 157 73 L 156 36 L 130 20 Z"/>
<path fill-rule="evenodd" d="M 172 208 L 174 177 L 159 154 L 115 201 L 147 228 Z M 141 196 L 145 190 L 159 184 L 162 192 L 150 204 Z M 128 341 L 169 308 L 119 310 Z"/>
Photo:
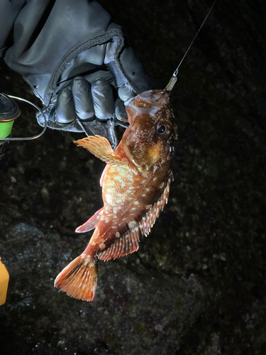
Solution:
<path fill-rule="evenodd" d="M 101 175 L 104 207 L 76 231 L 94 229 L 87 248 L 55 279 L 55 287 L 79 300 L 94 299 L 99 261 L 138 251 L 167 203 L 177 124 L 170 92 L 148 90 L 126 102 L 129 126 L 113 151 L 101 136 L 74 141 L 106 163 Z"/>

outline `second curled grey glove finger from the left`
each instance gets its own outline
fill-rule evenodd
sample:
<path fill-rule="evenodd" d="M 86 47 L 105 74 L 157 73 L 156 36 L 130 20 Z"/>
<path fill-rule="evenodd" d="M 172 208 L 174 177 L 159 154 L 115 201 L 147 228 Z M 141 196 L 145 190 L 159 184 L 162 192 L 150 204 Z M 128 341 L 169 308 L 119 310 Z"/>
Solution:
<path fill-rule="evenodd" d="M 83 77 L 75 77 L 72 81 L 72 94 L 77 116 L 87 121 L 94 120 L 94 104 L 91 85 Z"/>

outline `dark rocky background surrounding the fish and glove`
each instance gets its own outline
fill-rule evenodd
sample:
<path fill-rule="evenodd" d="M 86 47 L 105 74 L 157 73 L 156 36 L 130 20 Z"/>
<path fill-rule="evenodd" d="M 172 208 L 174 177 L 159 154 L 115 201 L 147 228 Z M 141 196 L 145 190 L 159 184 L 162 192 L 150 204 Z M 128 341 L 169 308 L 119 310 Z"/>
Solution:
<path fill-rule="evenodd" d="M 211 1 L 100 0 L 163 88 Z M 1 354 L 266 354 L 263 0 L 219 0 L 172 93 L 179 126 L 170 201 L 140 250 L 99 263 L 92 302 L 53 288 L 91 234 L 104 164 L 47 131 L 10 143 L 1 173 L 0 255 L 10 273 Z M 1 61 L 1 91 L 34 100 Z M 40 131 L 33 110 L 13 136 Z"/>

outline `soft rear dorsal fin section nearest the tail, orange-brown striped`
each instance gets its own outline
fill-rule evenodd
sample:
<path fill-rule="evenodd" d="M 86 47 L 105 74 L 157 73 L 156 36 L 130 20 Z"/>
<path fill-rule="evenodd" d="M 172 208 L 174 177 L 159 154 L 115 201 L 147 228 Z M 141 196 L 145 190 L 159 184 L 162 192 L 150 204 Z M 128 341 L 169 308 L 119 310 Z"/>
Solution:
<path fill-rule="evenodd" d="M 135 222 L 135 228 L 127 231 L 123 236 L 118 237 L 116 241 L 99 253 L 99 260 L 107 261 L 111 259 L 121 258 L 134 251 L 138 251 L 138 242 L 140 241 L 140 230 L 138 223 Z"/>

